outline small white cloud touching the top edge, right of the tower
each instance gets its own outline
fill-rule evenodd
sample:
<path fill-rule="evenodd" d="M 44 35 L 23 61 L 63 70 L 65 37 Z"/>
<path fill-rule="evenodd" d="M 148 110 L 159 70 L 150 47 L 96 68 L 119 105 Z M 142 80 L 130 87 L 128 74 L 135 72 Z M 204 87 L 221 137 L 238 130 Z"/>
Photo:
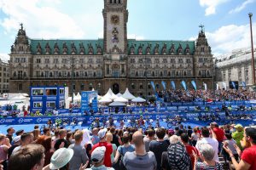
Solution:
<path fill-rule="evenodd" d="M 206 7 L 206 16 L 210 14 L 216 14 L 216 8 L 221 3 L 226 3 L 229 0 L 200 0 L 201 7 Z"/>

